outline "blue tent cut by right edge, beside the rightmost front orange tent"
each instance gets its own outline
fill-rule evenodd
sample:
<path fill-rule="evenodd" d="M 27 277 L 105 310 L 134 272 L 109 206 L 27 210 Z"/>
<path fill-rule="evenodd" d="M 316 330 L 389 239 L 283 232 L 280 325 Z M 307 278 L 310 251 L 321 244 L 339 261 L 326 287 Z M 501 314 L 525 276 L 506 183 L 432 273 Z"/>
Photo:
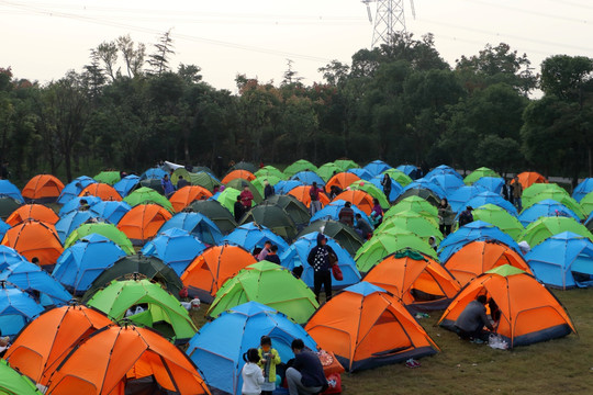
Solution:
<path fill-rule="evenodd" d="M 560 289 L 593 285 L 593 242 L 564 232 L 552 236 L 525 257 L 534 275 L 546 285 Z"/>

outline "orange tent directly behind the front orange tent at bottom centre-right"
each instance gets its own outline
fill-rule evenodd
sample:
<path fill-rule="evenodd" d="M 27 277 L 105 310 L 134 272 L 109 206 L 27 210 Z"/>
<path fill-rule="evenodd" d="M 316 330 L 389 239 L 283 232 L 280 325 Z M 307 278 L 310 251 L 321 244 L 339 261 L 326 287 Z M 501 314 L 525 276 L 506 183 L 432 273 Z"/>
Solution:
<path fill-rule="evenodd" d="M 415 312 L 443 309 L 461 290 L 447 269 L 412 250 L 387 257 L 363 281 L 392 293 Z"/>

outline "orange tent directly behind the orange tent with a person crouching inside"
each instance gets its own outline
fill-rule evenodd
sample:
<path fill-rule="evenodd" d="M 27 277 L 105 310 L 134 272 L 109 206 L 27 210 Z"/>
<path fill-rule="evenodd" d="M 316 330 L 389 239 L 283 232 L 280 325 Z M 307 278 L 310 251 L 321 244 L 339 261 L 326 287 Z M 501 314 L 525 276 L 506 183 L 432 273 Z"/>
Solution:
<path fill-rule="evenodd" d="M 445 268 L 463 286 L 478 275 L 503 264 L 532 273 L 521 255 L 495 241 L 472 241 L 463 246 L 447 260 Z"/>

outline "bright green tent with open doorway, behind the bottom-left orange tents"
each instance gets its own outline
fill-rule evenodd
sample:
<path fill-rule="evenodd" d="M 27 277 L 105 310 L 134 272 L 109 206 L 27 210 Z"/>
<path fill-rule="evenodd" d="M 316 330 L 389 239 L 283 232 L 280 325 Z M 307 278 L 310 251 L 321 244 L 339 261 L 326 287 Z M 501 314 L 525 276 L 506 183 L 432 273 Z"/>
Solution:
<path fill-rule="evenodd" d="M 135 324 L 156 329 L 176 342 L 188 341 L 198 329 L 188 311 L 159 284 L 148 280 L 112 281 L 98 291 L 87 305 L 105 313 L 114 321 L 127 318 Z M 136 305 L 147 305 L 144 312 L 134 313 Z"/>

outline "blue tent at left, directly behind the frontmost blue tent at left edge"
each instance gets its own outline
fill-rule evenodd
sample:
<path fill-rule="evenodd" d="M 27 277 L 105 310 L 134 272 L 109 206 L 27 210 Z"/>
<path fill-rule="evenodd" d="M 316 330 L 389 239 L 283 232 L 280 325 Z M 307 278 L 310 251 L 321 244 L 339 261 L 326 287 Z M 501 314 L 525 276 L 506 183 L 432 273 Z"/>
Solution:
<path fill-rule="evenodd" d="M 0 272 L 5 280 L 29 293 L 38 293 L 38 303 L 44 307 L 64 306 L 72 298 L 64 286 L 38 266 L 21 261 Z"/>

